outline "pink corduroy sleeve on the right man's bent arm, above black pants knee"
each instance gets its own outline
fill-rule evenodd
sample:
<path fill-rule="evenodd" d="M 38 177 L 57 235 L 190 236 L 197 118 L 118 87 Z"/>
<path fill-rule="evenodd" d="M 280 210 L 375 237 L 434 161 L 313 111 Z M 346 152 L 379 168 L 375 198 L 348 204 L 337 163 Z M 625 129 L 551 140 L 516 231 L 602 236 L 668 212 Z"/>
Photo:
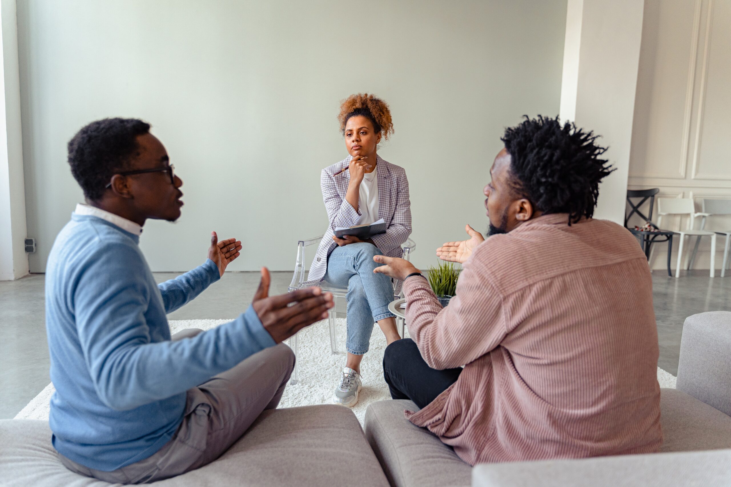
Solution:
<path fill-rule="evenodd" d="M 507 335 L 501 296 L 476 267 L 470 261 L 464 264 L 456 295 L 444 308 L 425 278 L 411 277 L 404 283 L 409 334 L 433 369 L 469 364 Z"/>

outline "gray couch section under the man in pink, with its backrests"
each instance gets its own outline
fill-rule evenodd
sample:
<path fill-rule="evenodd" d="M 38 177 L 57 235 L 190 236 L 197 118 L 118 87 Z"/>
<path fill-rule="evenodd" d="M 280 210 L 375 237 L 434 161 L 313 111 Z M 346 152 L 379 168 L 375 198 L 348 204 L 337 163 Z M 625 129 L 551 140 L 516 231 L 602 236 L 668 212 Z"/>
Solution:
<path fill-rule="evenodd" d="M 404 420 L 410 401 L 366 411 L 365 432 L 393 487 L 731 486 L 731 312 L 683 325 L 677 389 L 661 391 L 662 453 L 580 460 L 464 464 Z"/>

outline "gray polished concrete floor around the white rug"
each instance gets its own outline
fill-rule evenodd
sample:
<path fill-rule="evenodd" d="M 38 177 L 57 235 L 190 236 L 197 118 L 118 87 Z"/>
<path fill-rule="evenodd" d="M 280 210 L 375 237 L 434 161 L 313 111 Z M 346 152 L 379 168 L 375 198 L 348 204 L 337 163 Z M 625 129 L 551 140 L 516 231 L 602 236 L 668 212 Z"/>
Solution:
<path fill-rule="evenodd" d="M 156 273 L 158 282 L 175 277 Z M 718 275 L 718 274 L 717 274 Z M 292 272 L 273 272 L 271 294 L 287 291 Z M 0 419 L 14 417 L 48 385 L 48 345 L 44 318 L 44 275 L 0 282 Z M 198 299 L 173 312 L 171 320 L 227 319 L 246 310 L 259 285 L 256 272 L 228 272 Z M 683 321 L 697 312 L 731 310 L 731 276 L 708 277 L 692 271 L 681 279 L 653 274 L 654 306 L 660 345 L 658 366 L 675 375 Z"/>

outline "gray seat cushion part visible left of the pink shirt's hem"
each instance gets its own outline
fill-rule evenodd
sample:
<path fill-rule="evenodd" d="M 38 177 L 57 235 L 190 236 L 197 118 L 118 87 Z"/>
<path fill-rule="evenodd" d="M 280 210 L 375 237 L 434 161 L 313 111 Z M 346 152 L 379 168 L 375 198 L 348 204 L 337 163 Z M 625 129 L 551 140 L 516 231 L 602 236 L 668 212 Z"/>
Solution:
<path fill-rule="evenodd" d="M 404 410 L 419 408 L 411 401 L 392 400 L 366 409 L 366 438 L 391 486 L 469 486 L 472 467 L 427 429 L 409 423 Z"/>

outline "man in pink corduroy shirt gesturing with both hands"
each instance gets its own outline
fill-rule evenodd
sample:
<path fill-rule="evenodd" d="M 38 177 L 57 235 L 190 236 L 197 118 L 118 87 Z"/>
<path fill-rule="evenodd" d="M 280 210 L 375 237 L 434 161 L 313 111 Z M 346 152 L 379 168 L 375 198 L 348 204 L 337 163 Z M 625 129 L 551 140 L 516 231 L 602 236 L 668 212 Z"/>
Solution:
<path fill-rule="evenodd" d="M 629 231 L 592 218 L 606 149 L 558 118 L 526 117 L 501 140 L 490 238 L 467 226 L 437 250 L 463 264 L 447 307 L 408 261 L 375 257 L 404 280 L 412 336 L 386 349 L 391 396 L 471 465 L 656 452 L 650 269 Z"/>

